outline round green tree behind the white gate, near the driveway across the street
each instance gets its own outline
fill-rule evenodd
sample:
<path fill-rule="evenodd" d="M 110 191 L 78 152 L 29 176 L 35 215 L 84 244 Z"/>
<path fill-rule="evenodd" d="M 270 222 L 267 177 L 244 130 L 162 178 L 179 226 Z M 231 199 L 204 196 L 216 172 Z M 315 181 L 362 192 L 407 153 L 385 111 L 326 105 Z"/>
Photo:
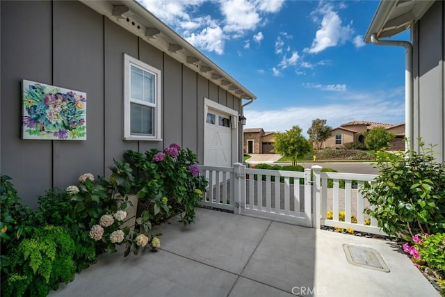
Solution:
<path fill-rule="evenodd" d="M 292 164 L 296 165 L 297 160 L 311 152 L 312 145 L 301 135 L 302 129 L 293 126 L 286 132 L 277 132 L 275 134 L 274 152 L 282 154 L 292 160 Z"/>

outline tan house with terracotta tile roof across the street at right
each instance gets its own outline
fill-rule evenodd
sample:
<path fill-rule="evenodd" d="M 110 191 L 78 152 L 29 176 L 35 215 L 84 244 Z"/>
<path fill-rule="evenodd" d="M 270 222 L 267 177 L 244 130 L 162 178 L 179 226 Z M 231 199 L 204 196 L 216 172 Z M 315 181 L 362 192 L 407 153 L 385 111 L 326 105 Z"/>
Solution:
<path fill-rule="evenodd" d="M 341 147 L 345 143 L 364 143 L 364 133 L 375 127 L 384 127 L 388 132 L 394 134 L 396 137 L 391 143 L 389 150 L 403 150 L 405 143 L 405 124 L 384 124 L 381 122 L 367 122 L 367 121 L 352 121 L 346 122 L 340 127 L 332 129 L 330 138 L 321 145 L 321 147 Z"/>

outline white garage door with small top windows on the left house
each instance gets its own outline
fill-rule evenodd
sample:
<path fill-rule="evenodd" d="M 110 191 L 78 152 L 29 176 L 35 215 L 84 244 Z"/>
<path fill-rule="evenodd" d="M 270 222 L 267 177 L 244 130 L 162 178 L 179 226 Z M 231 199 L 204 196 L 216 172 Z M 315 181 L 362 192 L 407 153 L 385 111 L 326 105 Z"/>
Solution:
<path fill-rule="evenodd" d="M 204 165 L 232 166 L 230 115 L 209 109 L 204 137 Z"/>

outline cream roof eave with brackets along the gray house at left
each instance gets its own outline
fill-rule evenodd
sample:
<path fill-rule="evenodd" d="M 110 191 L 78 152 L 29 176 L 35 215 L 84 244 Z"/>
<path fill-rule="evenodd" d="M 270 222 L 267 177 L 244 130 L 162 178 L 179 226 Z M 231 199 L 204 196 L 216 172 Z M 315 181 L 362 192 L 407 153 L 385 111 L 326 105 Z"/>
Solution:
<path fill-rule="evenodd" d="M 142 5 L 140 5 L 140 3 L 136 1 L 113 1 L 113 3 L 116 3 L 113 4 L 109 1 L 79 1 L 97 11 L 97 13 L 105 15 L 106 17 L 108 17 L 108 19 L 111 19 L 112 22 L 115 22 L 116 24 L 122 26 L 124 29 L 127 29 L 127 31 L 138 35 L 141 39 L 145 40 L 150 45 L 153 45 L 157 49 L 163 51 L 165 54 L 168 54 L 168 56 L 175 58 L 175 60 L 183 63 L 191 70 L 201 74 L 203 77 L 209 79 L 210 81 L 213 81 L 213 83 L 216 83 L 216 85 L 220 86 L 220 88 L 223 88 L 224 90 L 227 90 L 227 92 L 231 93 L 232 95 L 240 99 L 257 99 L 257 97 L 252 94 L 247 88 L 242 86 L 241 83 L 238 83 L 238 81 L 227 74 L 227 72 L 222 70 L 218 65 L 213 63 L 209 58 L 207 58 L 207 56 L 204 56 L 204 54 L 193 47 L 193 45 L 184 40 L 184 38 L 181 38 L 181 36 L 170 29 L 170 27 L 164 24 L 160 19 L 152 15 L 152 13 L 149 13 L 149 11 Z M 148 28 L 145 28 L 145 26 L 143 26 L 142 24 L 140 24 L 141 28 L 138 30 L 129 28 L 129 26 L 126 25 L 127 22 L 124 22 L 123 17 L 113 15 L 113 8 L 118 5 L 127 6 L 129 8 L 129 12 L 127 12 L 127 15 L 129 17 L 131 17 L 131 15 L 137 14 L 153 25 L 154 28 L 151 28 L 152 30 L 158 29 L 161 33 L 159 35 L 147 36 L 145 35 L 145 33 Z M 187 56 L 186 54 L 181 52 L 181 50 L 178 49 L 177 46 L 172 47 L 172 44 L 161 38 L 162 34 L 165 34 L 172 40 L 175 40 L 174 45 L 186 49 L 191 54 L 193 54 L 193 57 Z M 177 51 L 172 51 L 172 49 L 177 49 Z M 196 58 L 198 59 L 198 61 L 201 61 L 201 67 L 204 67 L 204 70 L 206 71 L 200 71 L 200 67 L 199 65 L 197 65 L 197 62 L 188 63 L 188 61 L 194 61 Z M 212 71 L 210 71 L 208 68 L 210 68 L 210 70 Z M 214 77 L 218 77 L 218 79 L 215 79 Z M 227 83 L 227 81 L 229 83 Z"/>

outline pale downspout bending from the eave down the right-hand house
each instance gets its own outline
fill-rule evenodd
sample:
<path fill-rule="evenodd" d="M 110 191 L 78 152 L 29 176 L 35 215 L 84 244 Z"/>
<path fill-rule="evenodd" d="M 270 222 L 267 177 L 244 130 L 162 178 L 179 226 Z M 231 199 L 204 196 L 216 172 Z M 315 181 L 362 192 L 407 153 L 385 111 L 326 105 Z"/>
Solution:
<path fill-rule="evenodd" d="M 402 40 L 379 40 L 375 34 L 371 34 L 371 42 L 375 45 L 389 45 L 405 47 L 405 150 L 414 150 L 413 134 L 413 86 L 412 86 L 412 44 Z"/>

